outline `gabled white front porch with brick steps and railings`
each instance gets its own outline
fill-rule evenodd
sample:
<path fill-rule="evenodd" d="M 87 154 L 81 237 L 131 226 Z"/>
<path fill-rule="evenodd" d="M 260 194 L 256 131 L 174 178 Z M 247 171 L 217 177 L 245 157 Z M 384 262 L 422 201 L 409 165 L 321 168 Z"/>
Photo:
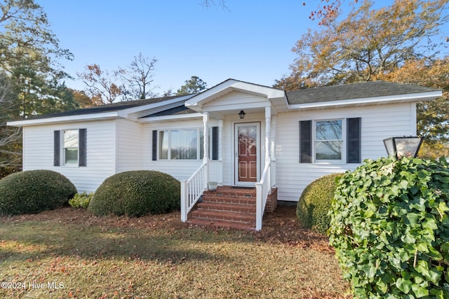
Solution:
<path fill-rule="evenodd" d="M 229 79 L 185 102 L 203 116 L 203 164 L 181 181 L 183 222 L 262 229 L 267 202 L 277 200 L 276 110 L 284 108 L 284 96 Z M 211 181 L 220 186 L 215 193 L 208 191 Z"/>

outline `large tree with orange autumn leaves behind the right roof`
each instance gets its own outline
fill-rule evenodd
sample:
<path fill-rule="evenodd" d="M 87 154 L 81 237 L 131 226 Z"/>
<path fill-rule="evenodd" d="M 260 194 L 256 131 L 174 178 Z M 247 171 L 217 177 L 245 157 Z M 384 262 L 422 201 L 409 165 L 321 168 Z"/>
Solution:
<path fill-rule="evenodd" d="M 371 81 L 410 59 L 437 57 L 443 43 L 441 26 L 448 22 L 447 0 L 396 0 L 373 9 L 363 1 L 341 22 L 333 18 L 320 30 L 309 30 L 297 41 L 291 74 L 276 87 L 297 89 Z M 439 38 L 439 39 L 438 39 Z"/>

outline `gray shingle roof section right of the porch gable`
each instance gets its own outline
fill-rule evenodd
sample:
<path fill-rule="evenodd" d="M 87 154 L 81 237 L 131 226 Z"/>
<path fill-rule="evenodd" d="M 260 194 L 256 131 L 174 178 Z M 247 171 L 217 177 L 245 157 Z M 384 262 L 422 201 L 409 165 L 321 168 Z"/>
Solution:
<path fill-rule="evenodd" d="M 408 95 L 420 92 L 433 92 L 437 89 L 419 85 L 371 81 L 346 85 L 325 86 L 286 92 L 289 104 L 310 104 L 344 99 L 363 99 L 389 95 Z"/>

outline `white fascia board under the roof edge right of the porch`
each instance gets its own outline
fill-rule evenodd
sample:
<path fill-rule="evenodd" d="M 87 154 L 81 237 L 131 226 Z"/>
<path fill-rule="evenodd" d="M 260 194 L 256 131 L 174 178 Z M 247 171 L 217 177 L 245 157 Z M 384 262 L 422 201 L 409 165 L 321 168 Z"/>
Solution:
<path fill-rule="evenodd" d="M 400 102 L 421 102 L 430 101 L 441 97 L 443 92 L 437 90 L 434 92 L 421 92 L 408 95 L 394 95 L 394 96 L 384 96 L 384 97 L 366 97 L 360 99 L 344 99 L 340 101 L 330 101 L 330 102 L 316 102 L 309 104 L 288 104 L 288 109 L 323 109 L 331 108 L 335 106 L 361 106 L 370 104 L 386 104 L 386 103 L 400 103 Z"/>

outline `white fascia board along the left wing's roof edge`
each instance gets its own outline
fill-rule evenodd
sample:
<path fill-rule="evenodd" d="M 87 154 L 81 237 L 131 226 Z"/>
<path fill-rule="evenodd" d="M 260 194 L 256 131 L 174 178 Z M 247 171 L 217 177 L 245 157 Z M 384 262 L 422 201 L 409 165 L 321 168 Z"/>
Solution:
<path fill-rule="evenodd" d="M 55 118 L 36 118 L 31 120 L 15 120 L 9 121 L 6 125 L 12 127 L 29 127 L 32 125 L 51 125 L 55 123 L 76 123 L 91 120 L 107 120 L 119 118 L 118 111 L 106 113 L 83 114 L 77 116 L 60 116 Z"/>

